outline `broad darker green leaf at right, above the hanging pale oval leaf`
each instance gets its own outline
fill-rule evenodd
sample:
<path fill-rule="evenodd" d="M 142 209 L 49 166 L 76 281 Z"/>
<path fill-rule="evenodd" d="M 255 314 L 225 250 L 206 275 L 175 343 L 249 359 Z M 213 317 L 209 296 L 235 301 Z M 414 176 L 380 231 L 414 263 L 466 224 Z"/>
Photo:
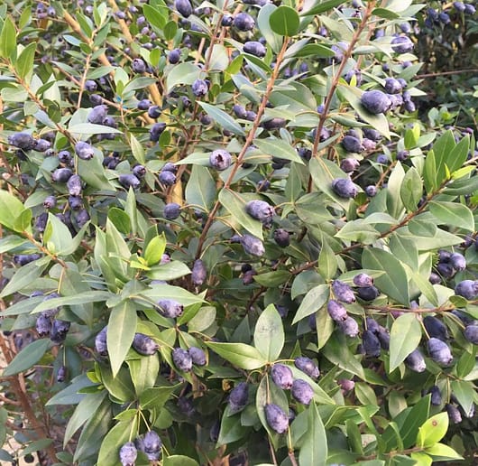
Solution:
<path fill-rule="evenodd" d="M 370 247 L 363 250 L 362 266 L 371 270 L 383 270 L 385 274 L 375 279 L 376 286 L 391 299 L 409 305 L 407 273 L 395 256 L 383 249 Z"/>

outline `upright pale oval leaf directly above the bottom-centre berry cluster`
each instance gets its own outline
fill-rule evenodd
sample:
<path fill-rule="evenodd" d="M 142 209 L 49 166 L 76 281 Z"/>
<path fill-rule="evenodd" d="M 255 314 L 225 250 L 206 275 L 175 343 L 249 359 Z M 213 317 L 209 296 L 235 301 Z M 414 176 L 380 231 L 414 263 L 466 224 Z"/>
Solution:
<path fill-rule="evenodd" d="M 280 356 L 284 346 L 284 327 L 274 304 L 269 304 L 255 322 L 254 346 L 262 356 L 273 362 Z"/>

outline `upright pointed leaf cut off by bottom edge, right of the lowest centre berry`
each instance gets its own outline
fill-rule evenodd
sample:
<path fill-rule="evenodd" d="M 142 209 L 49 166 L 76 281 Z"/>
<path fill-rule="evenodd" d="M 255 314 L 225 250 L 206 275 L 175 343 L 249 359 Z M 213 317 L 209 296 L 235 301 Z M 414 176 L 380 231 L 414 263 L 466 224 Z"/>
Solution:
<path fill-rule="evenodd" d="M 303 443 L 299 452 L 300 466 L 325 466 L 327 459 L 326 429 L 317 405 L 308 405 L 308 430 L 303 437 Z"/>

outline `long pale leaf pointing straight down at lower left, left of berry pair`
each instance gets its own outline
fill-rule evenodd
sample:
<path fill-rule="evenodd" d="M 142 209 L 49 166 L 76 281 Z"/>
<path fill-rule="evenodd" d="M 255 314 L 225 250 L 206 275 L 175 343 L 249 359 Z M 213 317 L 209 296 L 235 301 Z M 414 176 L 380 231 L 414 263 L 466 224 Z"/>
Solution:
<path fill-rule="evenodd" d="M 113 377 L 123 364 L 136 332 L 136 309 L 131 301 L 115 306 L 108 319 L 106 345 Z"/>

